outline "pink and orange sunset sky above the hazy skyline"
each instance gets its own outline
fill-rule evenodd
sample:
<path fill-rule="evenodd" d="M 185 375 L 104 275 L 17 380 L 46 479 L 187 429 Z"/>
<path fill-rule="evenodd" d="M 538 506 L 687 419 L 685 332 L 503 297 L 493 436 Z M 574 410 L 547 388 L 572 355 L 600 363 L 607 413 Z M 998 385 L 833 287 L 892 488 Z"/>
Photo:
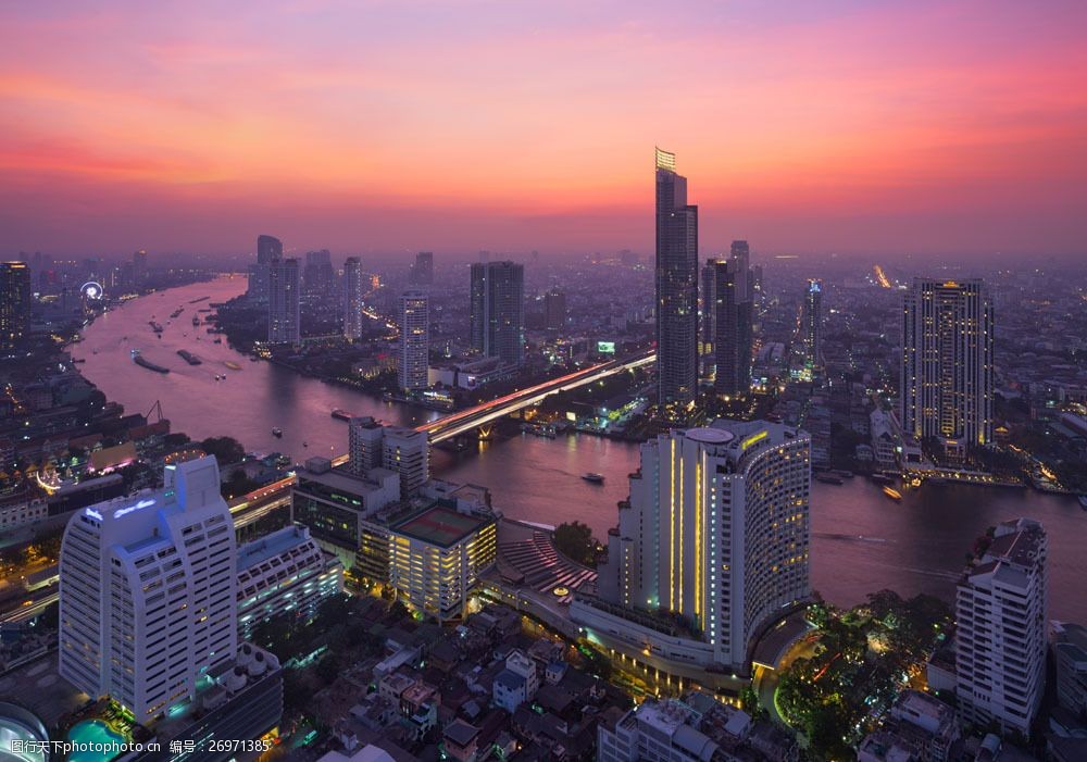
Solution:
<path fill-rule="evenodd" d="M 1085 255 L 1084 0 L 0 1 L 0 255 Z"/>

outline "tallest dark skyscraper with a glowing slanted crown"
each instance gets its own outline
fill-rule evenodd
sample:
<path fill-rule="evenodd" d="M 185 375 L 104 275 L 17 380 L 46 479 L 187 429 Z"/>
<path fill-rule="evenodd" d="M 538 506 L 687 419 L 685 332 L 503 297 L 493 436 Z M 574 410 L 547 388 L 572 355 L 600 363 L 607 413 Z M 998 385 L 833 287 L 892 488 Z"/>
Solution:
<path fill-rule="evenodd" d="M 658 402 L 687 404 L 698 392 L 698 207 L 674 153 L 657 149 Z"/>

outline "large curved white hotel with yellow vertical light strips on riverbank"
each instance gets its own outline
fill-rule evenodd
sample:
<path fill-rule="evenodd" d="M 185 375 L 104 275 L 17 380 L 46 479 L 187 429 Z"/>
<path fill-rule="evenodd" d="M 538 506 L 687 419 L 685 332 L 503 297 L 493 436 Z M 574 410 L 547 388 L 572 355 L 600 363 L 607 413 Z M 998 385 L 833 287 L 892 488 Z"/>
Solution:
<path fill-rule="evenodd" d="M 641 446 L 629 501 L 609 533 L 599 597 L 690 623 L 685 642 L 652 642 L 654 655 L 746 670 L 752 639 L 810 594 L 810 487 L 809 437 L 795 428 L 721 420 L 660 435 Z M 571 615 L 605 640 L 623 630 L 615 609 L 579 599 Z M 633 645 L 645 636 L 632 635 Z M 607 642 L 630 646 L 622 635 Z"/>

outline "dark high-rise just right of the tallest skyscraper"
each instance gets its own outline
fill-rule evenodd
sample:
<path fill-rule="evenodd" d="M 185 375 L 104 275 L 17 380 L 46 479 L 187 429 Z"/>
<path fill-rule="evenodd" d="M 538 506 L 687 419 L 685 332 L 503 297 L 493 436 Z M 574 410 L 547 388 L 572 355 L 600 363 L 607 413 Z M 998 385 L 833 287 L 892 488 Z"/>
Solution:
<path fill-rule="evenodd" d="M 735 397 L 751 389 L 752 303 L 746 257 L 713 262 L 713 389 Z"/>

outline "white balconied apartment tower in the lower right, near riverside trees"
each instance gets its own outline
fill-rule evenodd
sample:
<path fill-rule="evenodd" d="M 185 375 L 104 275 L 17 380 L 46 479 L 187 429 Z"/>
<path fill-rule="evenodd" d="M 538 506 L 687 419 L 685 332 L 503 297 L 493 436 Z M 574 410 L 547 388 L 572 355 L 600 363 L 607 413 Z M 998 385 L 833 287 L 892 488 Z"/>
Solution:
<path fill-rule="evenodd" d="M 1029 519 L 997 526 L 955 597 L 962 717 L 1030 732 L 1046 682 L 1046 532 Z"/>

